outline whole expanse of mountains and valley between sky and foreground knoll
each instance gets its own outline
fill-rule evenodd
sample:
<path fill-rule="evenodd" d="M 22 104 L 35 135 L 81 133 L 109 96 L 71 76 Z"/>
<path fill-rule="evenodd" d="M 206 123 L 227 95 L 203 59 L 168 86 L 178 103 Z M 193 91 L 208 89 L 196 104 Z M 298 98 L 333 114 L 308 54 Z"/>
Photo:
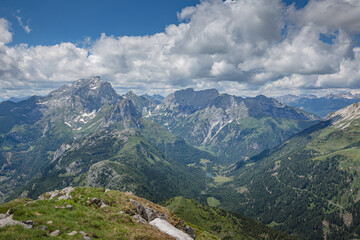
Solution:
<path fill-rule="evenodd" d="M 195 199 L 301 239 L 357 238 L 360 105 L 321 120 L 321 111 L 281 101 L 216 89 L 119 95 L 91 77 L 45 97 L 1 102 L 0 202 L 105 187 L 174 211 L 179 204 L 204 209 L 169 200 Z M 240 231 L 200 227 L 224 239 Z"/>

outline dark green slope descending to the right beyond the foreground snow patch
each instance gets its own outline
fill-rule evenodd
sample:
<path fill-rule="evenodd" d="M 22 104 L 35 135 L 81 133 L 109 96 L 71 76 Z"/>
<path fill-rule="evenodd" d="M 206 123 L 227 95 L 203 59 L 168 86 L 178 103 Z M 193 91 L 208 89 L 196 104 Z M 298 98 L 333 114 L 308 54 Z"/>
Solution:
<path fill-rule="evenodd" d="M 243 215 L 209 207 L 192 199 L 175 197 L 162 205 L 187 222 L 196 224 L 221 239 L 295 239 Z"/>

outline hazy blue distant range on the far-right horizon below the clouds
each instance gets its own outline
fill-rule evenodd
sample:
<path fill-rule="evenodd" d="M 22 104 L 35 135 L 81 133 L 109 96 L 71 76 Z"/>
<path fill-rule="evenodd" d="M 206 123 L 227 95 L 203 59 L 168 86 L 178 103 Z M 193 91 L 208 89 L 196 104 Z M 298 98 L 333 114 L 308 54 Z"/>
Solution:
<path fill-rule="evenodd" d="M 360 102 L 360 93 L 343 92 L 317 97 L 311 94 L 300 96 L 284 95 L 276 98 L 289 106 L 300 108 L 325 118 L 329 113 L 335 112 L 349 104 Z"/>

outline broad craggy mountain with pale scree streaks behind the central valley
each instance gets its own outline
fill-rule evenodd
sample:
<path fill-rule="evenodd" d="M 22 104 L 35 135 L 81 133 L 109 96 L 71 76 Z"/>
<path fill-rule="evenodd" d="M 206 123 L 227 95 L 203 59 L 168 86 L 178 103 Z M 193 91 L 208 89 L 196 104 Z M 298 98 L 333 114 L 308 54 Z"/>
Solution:
<path fill-rule="evenodd" d="M 144 116 L 224 162 L 274 147 L 318 119 L 272 98 L 242 98 L 215 89 L 176 91 Z"/>

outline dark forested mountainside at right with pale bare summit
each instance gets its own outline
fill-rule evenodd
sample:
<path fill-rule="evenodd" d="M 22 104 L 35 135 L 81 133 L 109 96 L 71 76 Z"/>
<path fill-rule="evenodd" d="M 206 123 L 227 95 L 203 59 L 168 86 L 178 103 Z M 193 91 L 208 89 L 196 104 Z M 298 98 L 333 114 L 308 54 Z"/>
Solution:
<path fill-rule="evenodd" d="M 243 212 L 301 239 L 357 239 L 360 222 L 360 104 L 278 147 L 227 169 L 208 190 Z"/>

